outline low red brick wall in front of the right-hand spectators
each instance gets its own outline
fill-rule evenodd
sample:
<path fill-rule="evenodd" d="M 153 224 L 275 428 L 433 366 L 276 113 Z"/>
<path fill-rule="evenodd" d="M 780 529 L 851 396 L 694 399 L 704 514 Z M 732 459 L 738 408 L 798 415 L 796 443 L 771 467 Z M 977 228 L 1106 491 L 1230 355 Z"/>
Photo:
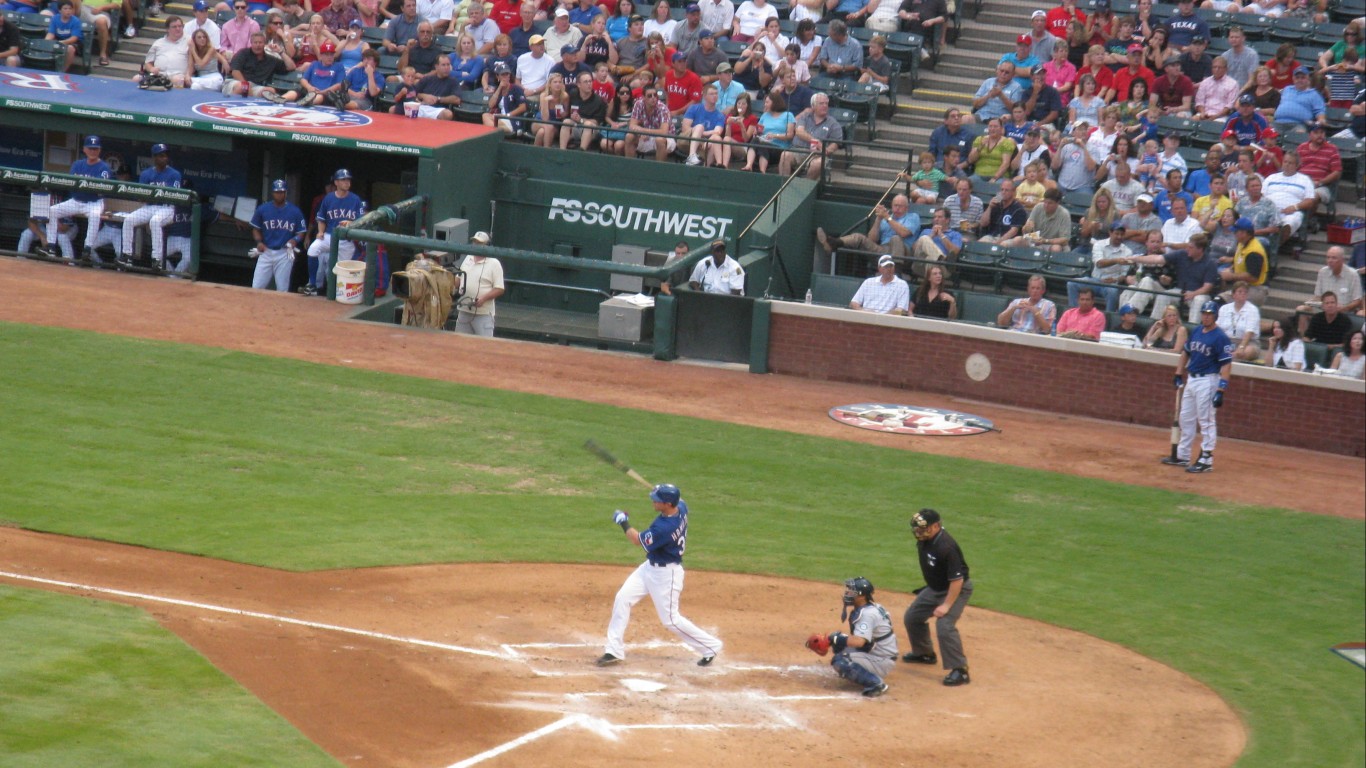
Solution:
<path fill-rule="evenodd" d="M 990 362 L 967 376 L 974 353 Z M 775 373 L 940 392 L 1044 411 L 1168 426 L 1172 353 L 1026 336 L 959 323 L 775 302 Z M 1220 436 L 1366 455 L 1366 383 L 1235 364 Z"/>

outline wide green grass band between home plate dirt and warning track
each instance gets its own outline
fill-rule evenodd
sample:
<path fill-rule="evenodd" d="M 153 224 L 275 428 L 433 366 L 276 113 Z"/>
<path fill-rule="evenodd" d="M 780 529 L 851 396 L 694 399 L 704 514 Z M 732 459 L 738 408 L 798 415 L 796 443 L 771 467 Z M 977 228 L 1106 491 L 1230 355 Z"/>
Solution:
<path fill-rule="evenodd" d="M 591 437 L 683 488 L 691 568 L 862 574 L 908 590 L 921 579 L 907 518 L 936 507 L 973 566 L 975 605 L 1091 633 L 1209 683 L 1249 726 L 1240 767 L 1366 763 L 1362 671 L 1328 652 L 1366 638 L 1361 522 L 12 324 L 0 324 L 0 522 L 292 570 L 632 563 L 609 514 L 647 517 L 649 504 L 581 448 Z M 90 604 L 61 605 L 79 630 Z M 51 631 L 45 642 L 68 642 Z M 124 637 L 139 635 L 97 640 Z M 22 663 L 0 655 L 0 682 Z M 198 696 L 183 687 L 186 701 Z M 108 701 L 78 685 L 25 700 L 55 712 Z M 213 738 L 193 717 L 178 727 Z M 0 764 L 10 743 L 0 738 Z"/>

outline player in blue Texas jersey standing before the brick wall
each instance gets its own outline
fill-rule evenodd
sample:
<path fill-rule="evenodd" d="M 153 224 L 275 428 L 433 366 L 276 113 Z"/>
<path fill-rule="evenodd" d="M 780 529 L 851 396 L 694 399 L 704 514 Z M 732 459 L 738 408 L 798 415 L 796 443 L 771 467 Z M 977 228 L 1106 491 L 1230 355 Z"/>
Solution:
<path fill-rule="evenodd" d="M 1199 312 L 1199 328 L 1191 332 L 1182 355 L 1176 361 L 1176 374 L 1172 384 L 1182 392 L 1180 428 L 1182 439 L 1176 444 L 1176 458 L 1162 456 L 1164 465 L 1184 466 L 1186 471 L 1203 473 L 1214 470 L 1214 443 L 1218 429 L 1214 424 L 1214 409 L 1223 407 L 1224 391 L 1233 370 L 1233 343 L 1218 325 L 1218 307 L 1206 302 Z M 1195 443 L 1195 428 L 1201 433 L 1199 458 L 1191 462 L 1191 448 Z"/>

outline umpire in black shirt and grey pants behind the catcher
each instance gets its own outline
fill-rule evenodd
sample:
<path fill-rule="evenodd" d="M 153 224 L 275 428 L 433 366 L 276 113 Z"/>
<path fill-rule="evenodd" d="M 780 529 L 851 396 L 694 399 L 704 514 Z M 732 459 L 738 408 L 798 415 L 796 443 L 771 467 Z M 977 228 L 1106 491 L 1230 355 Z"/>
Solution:
<path fill-rule="evenodd" d="M 940 514 L 934 510 L 921 510 L 911 518 L 915 533 L 915 552 L 921 560 L 921 574 L 925 585 L 915 590 L 915 600 L 906 609 L 906 634 L 911 638 L 911 652 L 902 656 L 907 664 L 933 664 L 934 645 L 930 642 L 929 619 L 938 619 L 934 634 L 938 635 L 940 653 L 944 655 L 944 678 L 947 686 L 960 686 L 971 682 L 967 676 L 967 656 L 963 655 L 963 638 L 958 634 L 958 618 L 973 597 L 973 581 L 967 578 L 967 562 L 958 541 L 944 530 Z"/>

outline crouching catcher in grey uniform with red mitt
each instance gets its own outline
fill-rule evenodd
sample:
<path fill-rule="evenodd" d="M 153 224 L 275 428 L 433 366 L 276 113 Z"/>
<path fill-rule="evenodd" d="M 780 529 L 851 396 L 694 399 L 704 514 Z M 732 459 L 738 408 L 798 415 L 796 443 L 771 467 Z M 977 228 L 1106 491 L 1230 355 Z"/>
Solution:
<path fill-rule="evenodd" d="M 850 614 L 850 607 L 854 612 Z M 844 611 L 840 620 L 848 616 L 850 631 L 813 634 L 806 646 L 820 656 L 835 649 L 831 667 L 835 672 L 863 686 L 863 696 L 872 698 L 887 693 L 882 679 L 896 663 L 896 633 L 887 609 L 873 603 L 873 582 L 854 577 L 844 582 Z"/>

